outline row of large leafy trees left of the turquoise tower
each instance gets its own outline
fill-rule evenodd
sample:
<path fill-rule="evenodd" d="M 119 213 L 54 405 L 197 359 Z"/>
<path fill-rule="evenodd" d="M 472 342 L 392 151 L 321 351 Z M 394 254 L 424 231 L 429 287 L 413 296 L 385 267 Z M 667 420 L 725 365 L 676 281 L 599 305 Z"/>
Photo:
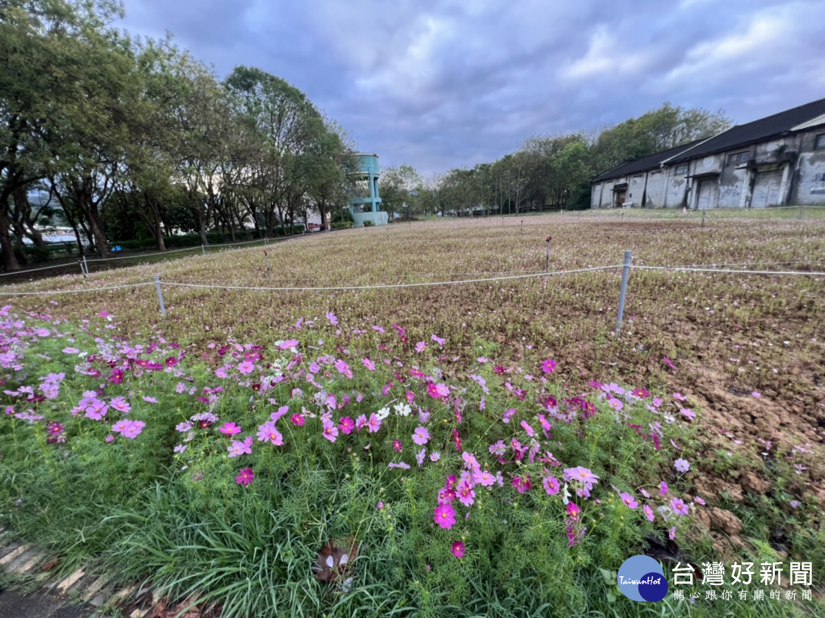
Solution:
<path fill-rule="evenodd" d="M 243 66 L 219 81 L 170 40 L 116 29 L 121 11 L 0 0 L 4 269 L 31 260 L 24 239 L 45 247 L 38 224 L 54 213 L 105 257 L 113 239 L 271 235 L 347 203 L 352 149 L 304 93 Z"/>

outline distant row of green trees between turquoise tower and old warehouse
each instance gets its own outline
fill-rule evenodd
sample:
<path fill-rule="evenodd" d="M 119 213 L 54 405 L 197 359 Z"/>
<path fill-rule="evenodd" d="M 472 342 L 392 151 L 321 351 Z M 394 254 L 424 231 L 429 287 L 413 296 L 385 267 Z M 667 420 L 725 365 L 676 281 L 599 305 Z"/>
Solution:
<path fill-rule="evenodd" d="M 382 173 L 381 197 L 385 210 L 409 215 L 587 208 L 588 180 L 593 176 L 729 126 L 721 110 L 712 114 L 665 103 L 598 133 L 533 137 L 496 162 L 454 169 L 427 180 L 408 165 L 387 168 Z"/>

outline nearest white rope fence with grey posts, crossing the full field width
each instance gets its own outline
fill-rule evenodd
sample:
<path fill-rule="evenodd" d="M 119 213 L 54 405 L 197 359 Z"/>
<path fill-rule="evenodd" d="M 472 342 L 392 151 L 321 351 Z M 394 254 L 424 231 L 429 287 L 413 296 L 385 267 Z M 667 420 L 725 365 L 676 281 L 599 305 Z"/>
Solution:
<path fill-rule="evenodd" d="M 251 292 L 348 292 L 359 290 L 382 290 L 382 289 L 401 289 L 401 288 L 436 288 L 448 285 L 466 285 L 470 283 L 492 283 L 495 281 L 514 281 L 518 279 L 535 279 L 538 277 L 550 277 L 563 274 L 577 274 L 577 273 L 592 273 L 613 269 L 622 269 L 621 288 L 619 296 L 619 310 L 616 319 L 616 337 L 620 335 L 622 318 L 625 310 L 625 295 L 627 293 L 627 284 L 629 273 L 631 269 L 637 270 L 654 270 L 654 271 L 670 271 L 680 273 L 719 273 L 719 274 L 759 274 L 759 275 L 780 275 L 780 276 L 806 276 L 806 277 L 825 277 L 825 271 L 816 270 L 747 270 L 747 269 L 709 269 L 695 266 L 644 266 L 631 265 L 631 252 L 625 251 L 624 264 L 606 265 L 606 266 L 592 266 L 581 269 L 568 270 L 547 270 L 544 272 L 535 272 L 528 274 L 509 274 L 499 275 L 495 277 L 484 277 L 481 279 L 461 279 L 458 281 L 427 281 L 421 283 L 375 283 L 370 285 L 336 285 L 336 286 L 304 286 L 304 287 L 270 287 L 270 286 L 242 286 L 242 285 L 224 285 L 214 283 L 182 283 L 177 281 L 161 281 L 160 275 L 155 275 L 153 281 L 143 283 L 127 283 L 123 285 L 106 286 L 103 288 L 81 288 L 69 290 L 39 290 L 34 292 L 0 292 L 0 296 L 52 296 L 56 294 L 76 294 L 76 293 L 94 293 L 106 292 L 110 290 L 118 290 L 125 288 L 141 288 L 149 285 L 155 287 L 158 293 L 158 304 L 163 317 L 166 317 L 166 304 L 163 302 L 163 287 L 167 288 L 195 288 L 206 290 L 243 290 Z M 770 264 L 763 262 L 762 264 Z M 788 262 L 775 262 L 777 265 L 788 264 Z"/>

